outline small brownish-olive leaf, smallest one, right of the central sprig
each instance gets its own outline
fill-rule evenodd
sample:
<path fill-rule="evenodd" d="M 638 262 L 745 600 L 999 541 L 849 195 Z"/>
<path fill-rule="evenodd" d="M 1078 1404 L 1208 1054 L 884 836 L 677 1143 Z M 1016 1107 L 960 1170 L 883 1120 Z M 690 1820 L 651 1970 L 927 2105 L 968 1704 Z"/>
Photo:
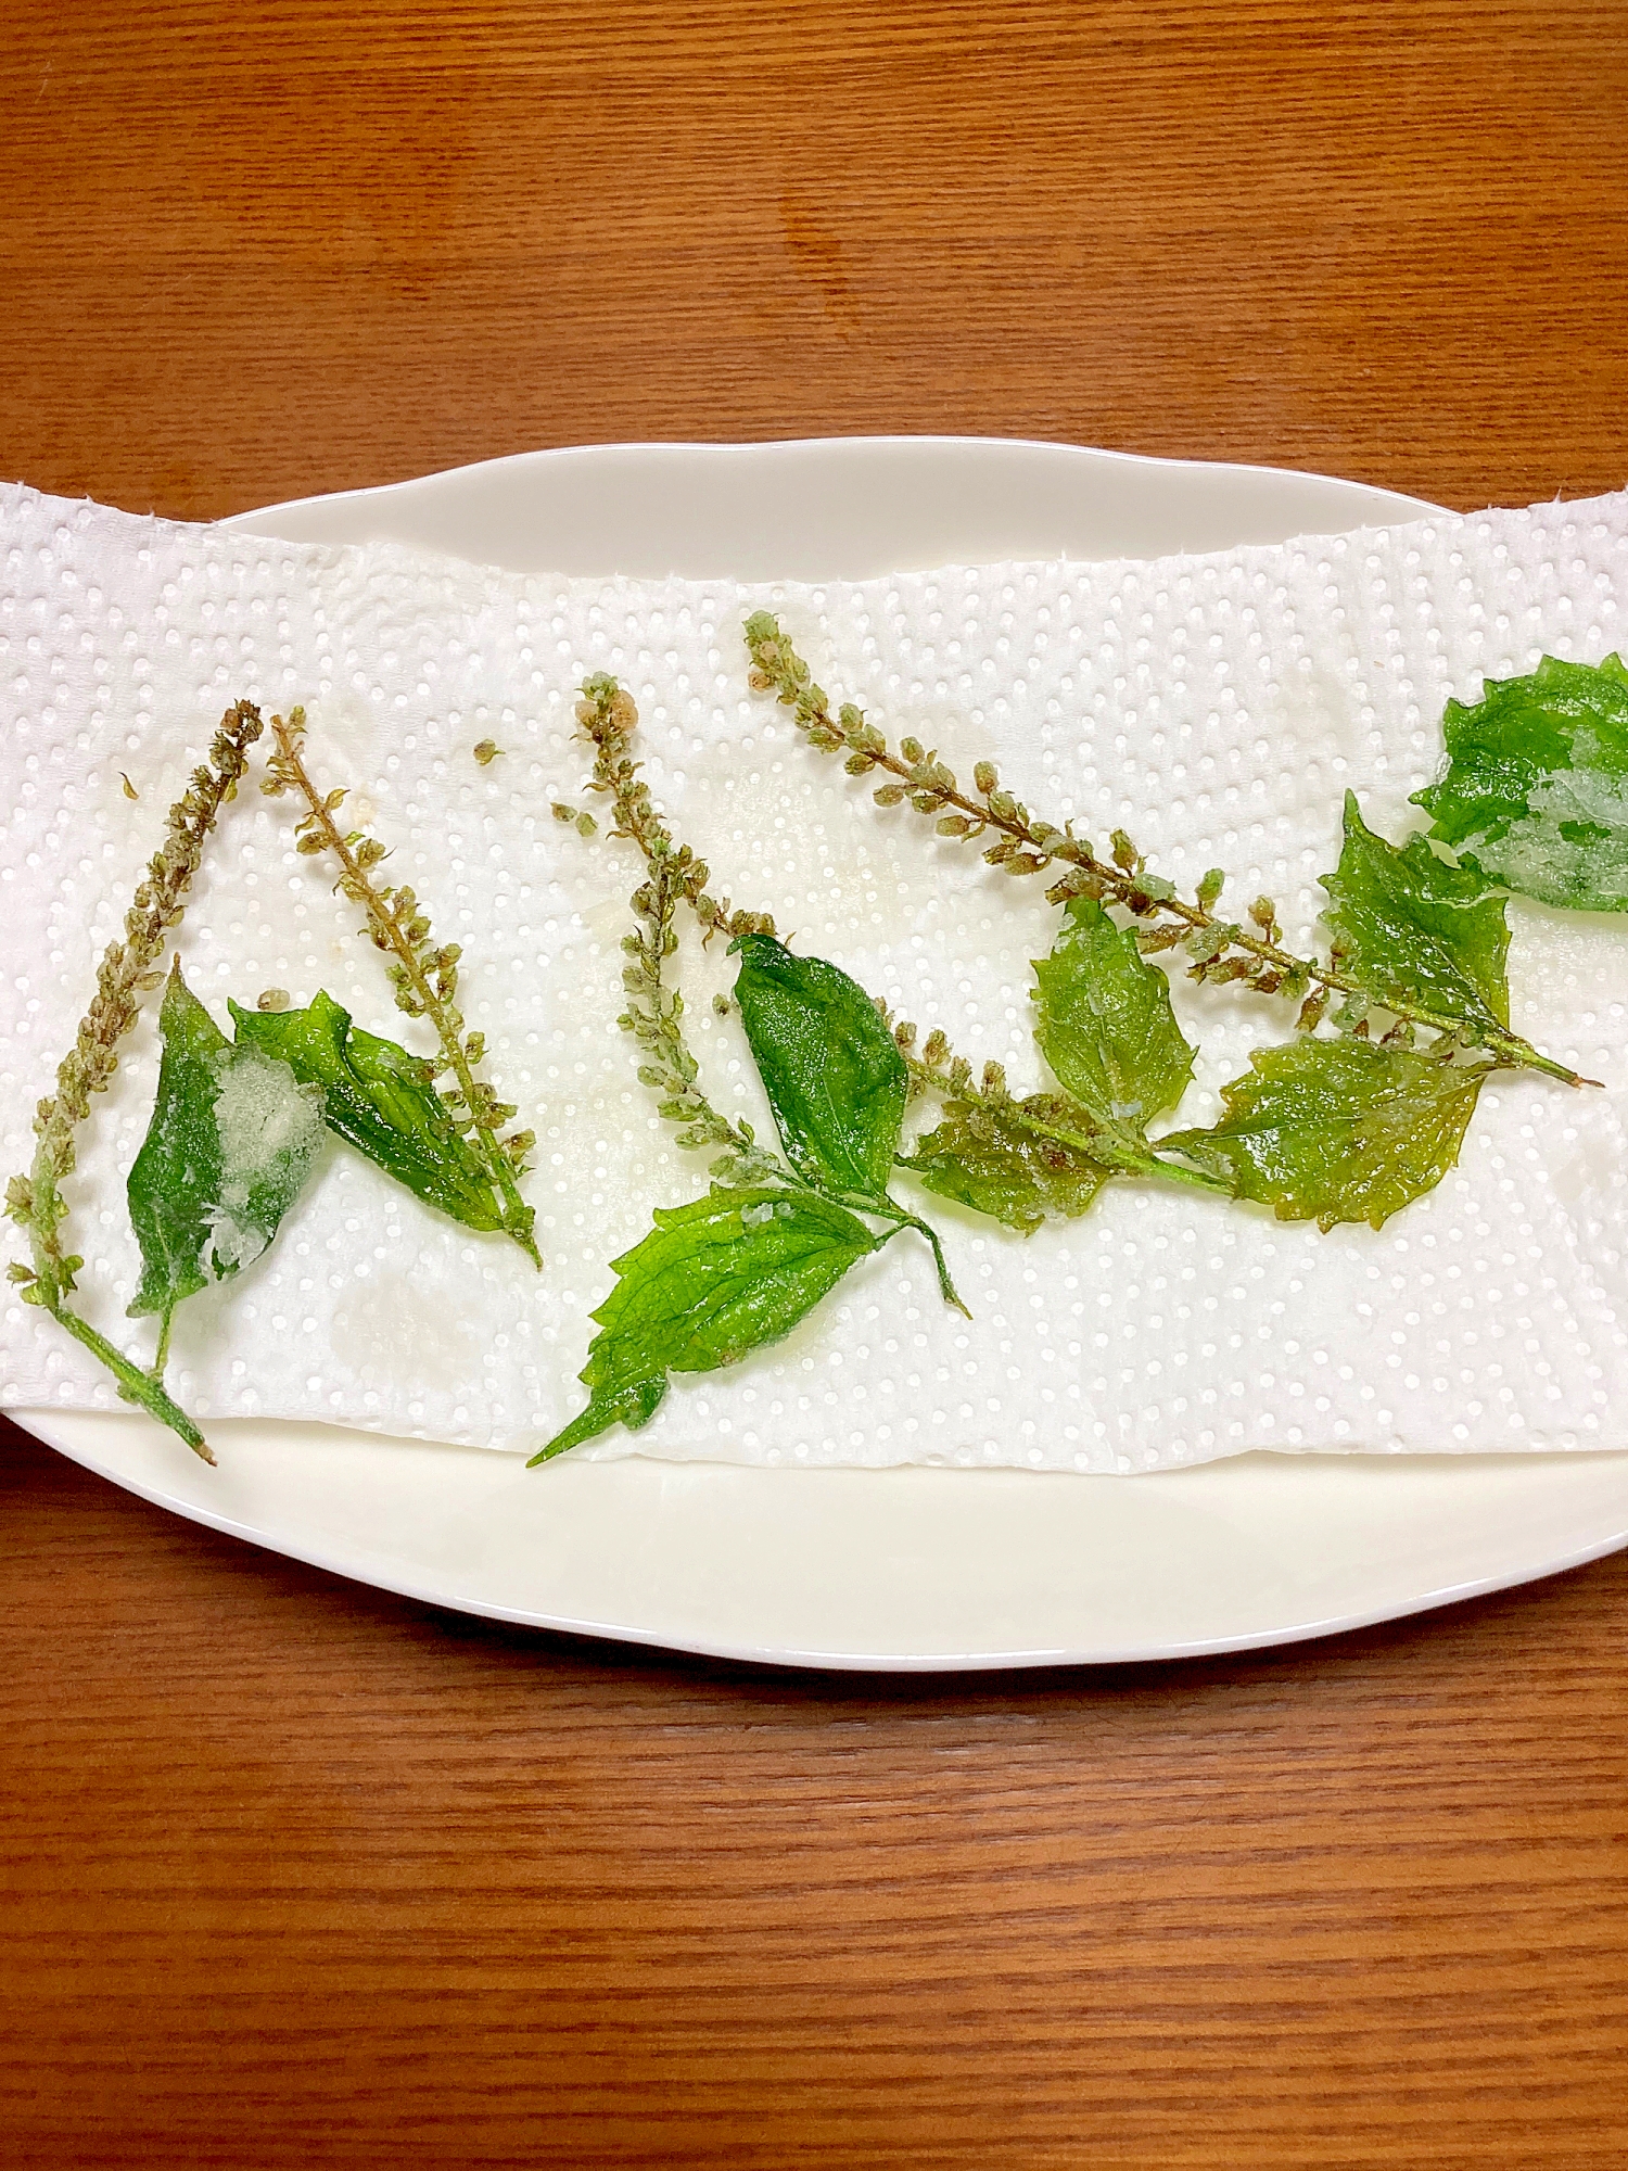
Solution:
<path fill-rule="evenodd" d="M 1048 1218 L 1074 1220 L 1114 1175 L 1059 1131 L 1085 1112 L 1055 1094 L 999 1107 L 949 1101 L 944 1120 L 901 1161 L 929 1192 L 990 1214 L 1025 1235 Z"/>

